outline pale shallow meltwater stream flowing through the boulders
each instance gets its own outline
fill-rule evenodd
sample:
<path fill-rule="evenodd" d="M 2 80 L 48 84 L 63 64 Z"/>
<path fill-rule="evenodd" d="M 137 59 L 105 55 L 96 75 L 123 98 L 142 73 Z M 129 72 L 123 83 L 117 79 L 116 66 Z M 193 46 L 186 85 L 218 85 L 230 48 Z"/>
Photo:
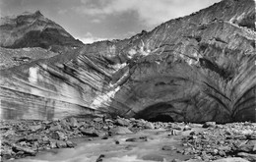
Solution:
<path fill-rule="evenodd" d="M 147 141 L 126 141 L 127 138 L 147 136 Z M 18 159 L 19 162 L 164 162 L 172 159 L 185 160 L 176 151 L 162 150 L 164 145 L 180 147 L 180 138 L 174 138 L 165 130 L 145 130 L 133 135 L 115 135 L 108 139 L 83 141 L 75 148 L 50 150 L 34 157 Z M 118 141 L 118 142 L 117 142 Z"/>

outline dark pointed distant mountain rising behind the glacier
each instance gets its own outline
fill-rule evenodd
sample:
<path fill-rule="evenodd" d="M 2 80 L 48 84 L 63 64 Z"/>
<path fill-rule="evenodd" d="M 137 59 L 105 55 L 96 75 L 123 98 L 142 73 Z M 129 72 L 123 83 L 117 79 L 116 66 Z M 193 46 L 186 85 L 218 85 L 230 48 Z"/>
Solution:
<path fill-rule="evenodd" d="M 0 46 L 6 48 L 41 47 L 63 53 L 84 44 L 39 11 L 1 18 Z"/>

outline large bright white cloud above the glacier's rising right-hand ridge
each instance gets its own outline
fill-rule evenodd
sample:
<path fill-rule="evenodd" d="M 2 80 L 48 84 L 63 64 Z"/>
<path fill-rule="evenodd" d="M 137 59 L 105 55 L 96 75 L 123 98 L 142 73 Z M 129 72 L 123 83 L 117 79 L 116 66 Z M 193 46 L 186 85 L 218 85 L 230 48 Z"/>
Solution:
<path fill-rule="evenodd" d="M 118 15 L 136 12 L 140 21 L 156 26 L 173 18 L 182 17 L 221 0 L 81 0 L 76 11 L 90 15 Z"/>

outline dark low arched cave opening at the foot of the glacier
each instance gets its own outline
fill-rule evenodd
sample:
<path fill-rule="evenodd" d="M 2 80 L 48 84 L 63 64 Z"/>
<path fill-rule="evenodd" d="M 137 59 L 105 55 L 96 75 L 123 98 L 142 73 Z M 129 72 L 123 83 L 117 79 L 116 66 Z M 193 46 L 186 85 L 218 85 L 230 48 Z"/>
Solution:
<path fill-rule="evenodd" d="M 140 111 L 135 118 L 144 119 L 150 122 L 174 122 L 171 114 L 174 107 L 169 103 L 157 103 Z"/>

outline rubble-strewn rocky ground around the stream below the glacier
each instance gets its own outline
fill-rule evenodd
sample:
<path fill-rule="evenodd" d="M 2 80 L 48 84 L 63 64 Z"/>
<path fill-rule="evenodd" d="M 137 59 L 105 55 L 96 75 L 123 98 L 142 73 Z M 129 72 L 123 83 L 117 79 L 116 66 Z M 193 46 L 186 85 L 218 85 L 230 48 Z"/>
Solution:
<path fill-rule="evenodd" d="M 164 132 L 163 138 L 176 140 L 178 143 L 172 145 L 166 142 L 160 146 L 169 158 L 151 155 L 147 156 L 146 160 L 256 161 L 255 123 L 217 125 L 215 122 L 207 122 L 200 125 L 104 117 L 68 118 L 58 121 L 1 121 L 1 160 L 35 156 L 38 152 L 49 149 L 76 147 L 82 138 L 84 141 L 90 141 L 105 140 L 115 135 L 137 135 L 128 137 L 125 141 L 150 142 L 150 136 L 138 136 L 145 130 L 156 131 L 155 135 Z M 113 142 L 118 147 L 121 141 Z M 175 159 L 174 154 L 177 157 Z M 99 154 L 96 161 L 104 161 L 104 155 Z"/>

